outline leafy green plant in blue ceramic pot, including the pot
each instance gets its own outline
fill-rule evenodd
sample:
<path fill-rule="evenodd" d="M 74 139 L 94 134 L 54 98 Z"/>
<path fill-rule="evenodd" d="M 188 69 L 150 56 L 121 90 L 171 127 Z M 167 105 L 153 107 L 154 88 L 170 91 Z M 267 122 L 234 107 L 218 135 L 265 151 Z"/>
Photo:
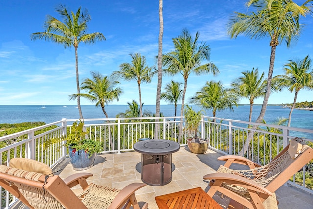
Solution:
<path fill-rule="evenodd" d="M 93 166 L 98 152 L 102 150 L 101 142 L 88 139 L 88 129 L 84 130 L 84 122 L 80 120 L 71 126 L 71 131 L 66 136 L 50 138 L 45 141 L 44 149 L 52 144 L 66 141 L 64 146 L 68 147 L 70 163 L 74 170 L 86 170 Z"/>

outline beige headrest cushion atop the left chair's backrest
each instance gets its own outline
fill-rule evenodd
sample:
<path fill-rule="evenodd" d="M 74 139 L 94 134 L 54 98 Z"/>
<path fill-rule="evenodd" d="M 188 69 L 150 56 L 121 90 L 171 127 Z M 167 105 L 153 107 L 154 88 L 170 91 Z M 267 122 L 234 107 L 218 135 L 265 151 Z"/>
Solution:
<path fill-rule="evenodd" d="M 52 176 L 51 174 L 53 172 L 45 163 L 27 158 L 12 158 L 9 162 L 9 166 L 50 176 Z"/>

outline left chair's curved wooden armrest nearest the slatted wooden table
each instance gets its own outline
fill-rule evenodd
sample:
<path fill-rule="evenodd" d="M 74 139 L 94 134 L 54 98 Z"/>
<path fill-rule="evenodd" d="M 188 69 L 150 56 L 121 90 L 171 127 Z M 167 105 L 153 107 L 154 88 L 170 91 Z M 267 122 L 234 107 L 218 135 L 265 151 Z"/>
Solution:
<path fill-rule="evenodd" d="M 131 199 L 131 202 L 135 201 L 135 203 L 133 202 L 133 207 L 134 209 L 139 208 L 139 206 L 137 205 L 137 200 L 135 198 L 135 191 L 137 191 L 138 189 L 147 186 L 144 183 L 132 183 L 129 184 L 127 186 L 125 186 L 119 193 L 118 195 L 114 198 L 114 200 L 112 201 L 112 203 L 110 204 L 108 209 L 119 209 L 121 206 L 123 206 L 129 199 Z M 134 204 L 136 204 L 136 206 L 134 206 Z M 144 207 L 147 207 L 148 204 L 145 204 Z"/>

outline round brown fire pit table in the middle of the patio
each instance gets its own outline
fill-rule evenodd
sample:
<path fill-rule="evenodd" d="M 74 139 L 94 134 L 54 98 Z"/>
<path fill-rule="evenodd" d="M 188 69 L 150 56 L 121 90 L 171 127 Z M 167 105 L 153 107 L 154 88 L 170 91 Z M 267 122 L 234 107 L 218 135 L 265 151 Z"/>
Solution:
<path fill-rule="evenodd" d="M 179 151 L 179 143 L 164 139 L 139 141 L 134 150 L 141 153 L 141 180 L 152 186 L 172 181 L 172 153 Z"/>

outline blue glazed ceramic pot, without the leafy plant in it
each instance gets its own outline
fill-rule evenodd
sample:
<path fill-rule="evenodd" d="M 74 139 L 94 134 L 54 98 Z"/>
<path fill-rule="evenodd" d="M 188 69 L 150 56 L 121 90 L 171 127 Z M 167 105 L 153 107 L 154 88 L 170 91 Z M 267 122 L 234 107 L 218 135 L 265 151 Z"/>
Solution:
<path fill-rule="evenodd" d="M 86 170 L 93 166 L 97 153 L 93 153 L 90 157 L 85 150 L 76 150 L 69 147 L 69 159 L 74 170 Z"/>

